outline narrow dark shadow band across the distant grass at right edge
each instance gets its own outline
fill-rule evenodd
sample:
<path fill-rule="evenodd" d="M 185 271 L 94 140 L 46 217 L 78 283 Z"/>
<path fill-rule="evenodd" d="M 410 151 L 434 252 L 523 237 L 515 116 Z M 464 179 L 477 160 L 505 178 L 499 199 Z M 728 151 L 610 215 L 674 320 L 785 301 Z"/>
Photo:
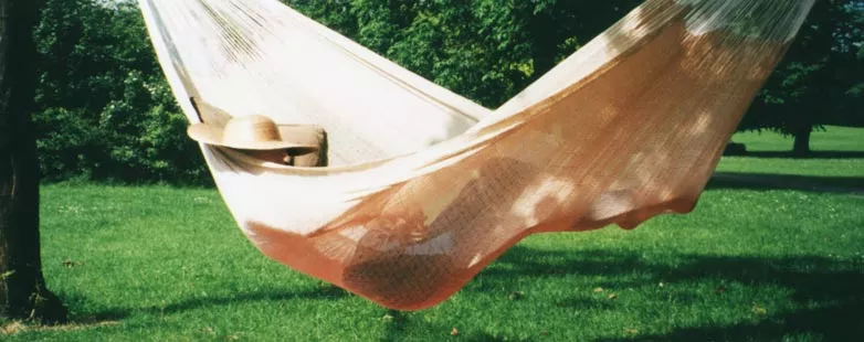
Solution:
<path fill-rule="evenodd" d="M 717 172 L 712 177 L 707 189 L 783 189 L 823 193 L 864 194 L 864 178 Z"/>

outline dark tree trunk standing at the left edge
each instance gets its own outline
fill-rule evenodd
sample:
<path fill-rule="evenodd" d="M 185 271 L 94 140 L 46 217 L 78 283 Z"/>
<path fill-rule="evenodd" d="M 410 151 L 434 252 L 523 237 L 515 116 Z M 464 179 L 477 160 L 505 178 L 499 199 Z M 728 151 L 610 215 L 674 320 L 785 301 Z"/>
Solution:
<path fill-rule="evenodd" d="M 39 162 L 30 113 L 40 0 L 0 0 L 0 317 L 61 322 L 39 248 Z"/>

